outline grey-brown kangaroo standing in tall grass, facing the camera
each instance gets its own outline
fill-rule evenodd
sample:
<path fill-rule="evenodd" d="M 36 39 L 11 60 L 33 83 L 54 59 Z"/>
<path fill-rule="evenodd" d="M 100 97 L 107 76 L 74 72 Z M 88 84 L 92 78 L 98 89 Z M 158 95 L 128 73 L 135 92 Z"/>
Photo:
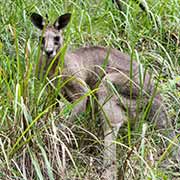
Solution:
<path fill-rule="evenodd" d="M 59 16 L 54 24 L 46 24 L 45 19 L 37 14 L 31 14 L 32 23 L 41 31 L 42 47 L 40 68 L 47 71 L 49 64 L 54 61 L 48 76 L 52 77 L 61 61 L 63 47 L 62 30 L 71 19 L 71 14 Z M 60 52 L 60 53 L 59 53 Z M 59 54 L 58 54 L 59 53 Z M 132 67 L 132 71 L 130 71 Z M 39 68 L 39 69 L 40 69 Z M 130 75 L 132 72 L 132 75 Z M 88 92 L 97 88 L 96 95 L 100 112 L 102 113 L 104 131 L 104 167 L 106 180 L 117 180 L 116 140 L 119 128 L 129 119 L 136 118 L 137 101 L 139 111 L 151 102 L 148 119 L 157 116 L 154 122 L 159 129 L 168 129 L 168 137 L 172 139 L 175 133 L 166 114 L 161 95 L 156 92 L 156 86 L 150 74 L 140 78 L 139 64 L 117 49 L 107 47 L 81 47 L 67 52 L 64 56 L 64 68 L 61 72 L 64 80 L 74 77 L 64 87 L 64 92 L 71 102 L 75 102 Z M 83 97 L 72 110 L 70 119 L 86 110 L 87 97 Z M 178 151 L 179 152 L 179 151 Z M 177 155 L 179 153 L 175 153 Z M 180 156 L 179 156 L 180 157 Z"/>

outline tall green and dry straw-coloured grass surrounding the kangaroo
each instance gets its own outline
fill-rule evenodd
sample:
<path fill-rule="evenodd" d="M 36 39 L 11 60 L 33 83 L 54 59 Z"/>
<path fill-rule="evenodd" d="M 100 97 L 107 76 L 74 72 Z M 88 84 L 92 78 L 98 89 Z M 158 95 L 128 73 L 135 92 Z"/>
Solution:
<path fill-rule="evenodd" d="M 53 85 L 55 80 L 37 79 L 40 34 L 29 20 L 31 12 L 48 14 L 50 21 L 71 12 L 71 23 L 64 32 L 70 49 L 110 46 L 140 61 L 158 79 L 178 132 L 180 5 L 177 0 L 148 0 L 147 5 L 148 13 L 134 1 L 122 1 L 123 11 L 109 0 L 1 1 L 0 179 L 100 179 L 103 171 L 102 128 L 98 114 L 93 114 L 93 92 L 85 95 L 90 96 L 91 111 L 68 122 L 76 103 L 58 100 L 61 87 Z M 177 163 L 173 168 L 158 163 L 164 152 L 159 148 L 163 137 L 158 138 L 159 133 L 149 126 L 143 121 L 138 130 L 120 130 L 115 142 L 119 167 L 123 167 L 120 178 L 180 178 Z"/>

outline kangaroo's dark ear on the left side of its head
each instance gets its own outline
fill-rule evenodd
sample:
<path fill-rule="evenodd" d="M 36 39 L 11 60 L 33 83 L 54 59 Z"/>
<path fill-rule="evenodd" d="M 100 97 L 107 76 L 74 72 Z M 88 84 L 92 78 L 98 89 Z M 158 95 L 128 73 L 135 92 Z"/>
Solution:
<path fill-rule="evenodd" d="M 31 18 L 31 22 L 34 24 L 34 26 L 36 26 L 40 30 L 43 29 L 43 27 L 45 25 L 45 21 L 41 15 L 39 15 L 37 13 L 32 13 L 30 18 Z"/>

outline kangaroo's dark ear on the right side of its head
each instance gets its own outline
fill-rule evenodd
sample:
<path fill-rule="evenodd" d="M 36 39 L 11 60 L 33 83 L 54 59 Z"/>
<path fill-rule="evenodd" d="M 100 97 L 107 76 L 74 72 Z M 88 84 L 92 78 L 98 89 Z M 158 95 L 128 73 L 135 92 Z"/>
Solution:
<path fill-rule="evenodd" d="M 70 19 L 71 19 L 70 13 L 63 14 L 56 19 L 56 21 L 54 22 L 54 27 L 57 30 L 60 30 L 69 23 Z"/>

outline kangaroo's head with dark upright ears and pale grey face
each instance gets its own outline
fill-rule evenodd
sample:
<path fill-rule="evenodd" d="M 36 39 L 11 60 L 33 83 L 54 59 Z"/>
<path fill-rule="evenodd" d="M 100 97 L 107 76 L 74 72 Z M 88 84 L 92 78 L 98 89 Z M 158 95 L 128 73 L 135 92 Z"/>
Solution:
<path fill-rule="evenodd" d="M 54 24 L 46 24 L 46 20 L 37 13 L 31 14 L 32 23 L 40 30 L 44 30 L 42 37 L 42 51 L 48 58 L 53 58 L 63 43 L 62 29 L 69 23 L 70 13 L 59 16 Z"/>

